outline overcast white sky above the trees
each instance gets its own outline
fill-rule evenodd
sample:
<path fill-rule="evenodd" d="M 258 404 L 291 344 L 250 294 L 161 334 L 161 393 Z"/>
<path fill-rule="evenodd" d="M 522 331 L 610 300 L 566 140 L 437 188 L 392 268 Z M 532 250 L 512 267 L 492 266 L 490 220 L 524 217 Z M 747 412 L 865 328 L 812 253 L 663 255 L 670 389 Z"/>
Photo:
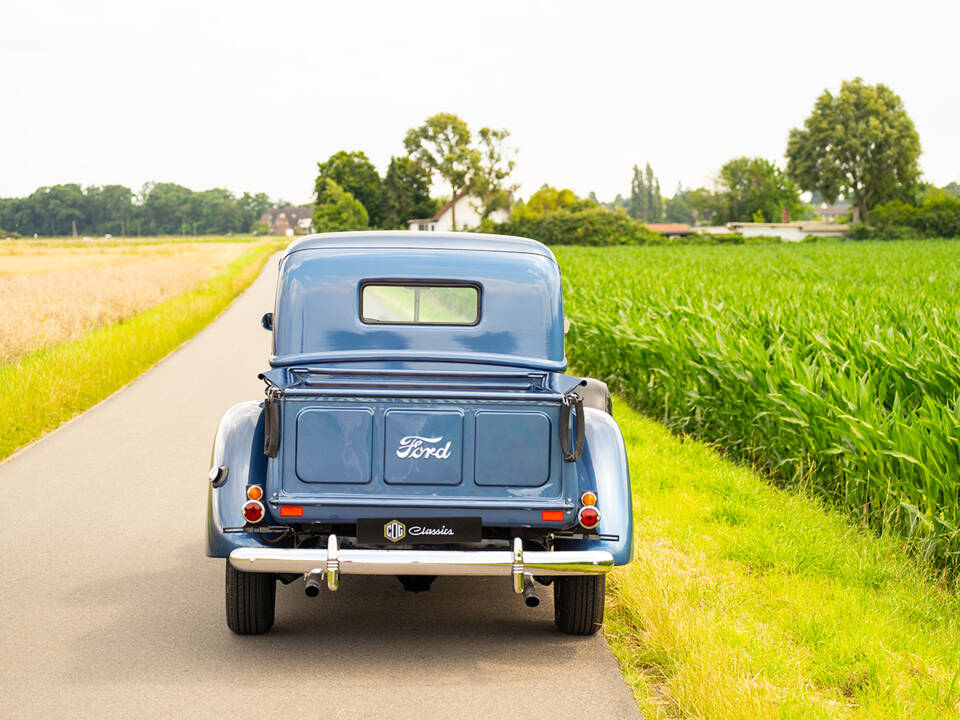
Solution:
<path fill-rule="evenodd" d="M 307 201 L 316 162 L 454 112 L 506 127 L 521 194 L 664 192 L 782 164 L 825 89 L 897 92 L 960 180 L 960 3 L 0 0 L 0 196 L 150 180 Z"/>

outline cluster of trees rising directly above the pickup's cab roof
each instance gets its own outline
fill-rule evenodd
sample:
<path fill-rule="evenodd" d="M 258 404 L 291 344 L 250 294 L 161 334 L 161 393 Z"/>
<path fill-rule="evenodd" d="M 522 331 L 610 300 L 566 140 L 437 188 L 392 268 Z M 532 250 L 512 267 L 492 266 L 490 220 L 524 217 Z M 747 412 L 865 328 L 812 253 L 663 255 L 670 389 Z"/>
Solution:
<path fill-rule="evenodd" d="M 317 232 L 405 228 L 409 220 L 432 217 L 440 200 L 434 181 L 450 197 L 468 192 L 482 220 L 510 205 L 515 151 L 510 132 L 482 127 L 476 134 L 453 113 L 438 113 L 404 136 L 405 155 L 390 158 L 386 174 L 362 150 L 341 150 L 317 163 L 313 226 Z M 456 227 L 456 207 L 453 208 Z"/>

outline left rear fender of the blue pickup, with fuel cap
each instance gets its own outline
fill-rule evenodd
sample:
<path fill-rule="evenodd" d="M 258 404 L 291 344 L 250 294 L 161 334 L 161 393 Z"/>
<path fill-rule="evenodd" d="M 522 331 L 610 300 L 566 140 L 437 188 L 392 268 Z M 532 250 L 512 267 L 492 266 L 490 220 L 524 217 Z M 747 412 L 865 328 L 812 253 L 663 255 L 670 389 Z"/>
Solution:
<path fill-rule="evenodd" d="M 227 557 L 240 547 L 267 547 L 254 533 L 223 532 L 225 527 L 243 524 L 240 512 L 247 499 L 247 485 L 260 485 L 266 491 L 263 403 L 249 400 L 224 414 L 213 443 L 212 467 L 221 466 L 227 468 L 226 480 L 219 487 L 208 482 L 207 488 L 207 556 Z"/>

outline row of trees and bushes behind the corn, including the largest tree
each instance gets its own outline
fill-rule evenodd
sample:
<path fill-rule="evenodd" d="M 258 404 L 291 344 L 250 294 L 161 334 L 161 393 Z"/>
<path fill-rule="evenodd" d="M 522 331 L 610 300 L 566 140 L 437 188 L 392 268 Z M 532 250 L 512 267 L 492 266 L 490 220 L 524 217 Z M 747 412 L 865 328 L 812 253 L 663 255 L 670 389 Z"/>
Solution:
<path fill-rule="evenodd" d="M 844 82 L 836 95 L 823 92 L 803 127 L 790 131 L 784 156 L 785 169 L 765 158 L 734 158 L 720 169 L 712 189 L 678 185 L 670 198 L 661 198 L 649 163 L 643 170 L 634 165 L 629 197 L 617 195 L 605 205 L 642 222 L 779 222 L 784 214 L 816 217 L 801 200 L 806 191 L 816 201 L 847 200 L 854 222 L 867 223 L 874 210 L 884 208 L 878 217 L 885 224 L 896 216 L 935 226 L 943 224 L 943 209 L 960 191 L 951 183 L 942 189 L 946 195 L 938 195 L 921 181 L 920 139 L 903 101 L 886 85 L 867 85 L 860 78 Z M 895 209 L 886 209 L 891 203 Z"/>

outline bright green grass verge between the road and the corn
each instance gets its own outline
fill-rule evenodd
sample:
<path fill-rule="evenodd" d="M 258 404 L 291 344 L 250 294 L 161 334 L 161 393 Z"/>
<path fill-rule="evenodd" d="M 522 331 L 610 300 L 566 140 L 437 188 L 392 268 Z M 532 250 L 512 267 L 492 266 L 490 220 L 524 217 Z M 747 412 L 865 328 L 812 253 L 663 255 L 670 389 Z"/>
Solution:
<path fill-rule="evenodd" d="M 617 399 L 636 557 L 606 634 L 652 718 L 956 718 L 960 601 L 903 542 Z"/>

